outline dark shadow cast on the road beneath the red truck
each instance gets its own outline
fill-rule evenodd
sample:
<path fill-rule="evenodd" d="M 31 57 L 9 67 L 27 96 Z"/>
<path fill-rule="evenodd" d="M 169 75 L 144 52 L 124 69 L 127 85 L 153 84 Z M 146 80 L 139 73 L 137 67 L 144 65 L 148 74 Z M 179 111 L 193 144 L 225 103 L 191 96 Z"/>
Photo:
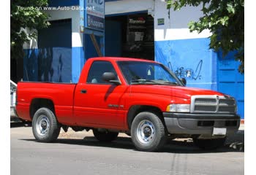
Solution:
<path fill-rule="evenodd" d="M 23 139 L 26 141 L 35 141 L 34 139 Z M 70 145 L 84 145 L 89 147 L 110 147 L 117 149 L 133 149 L 135 146 L 132 144 L 130 137 L 118 137 L 113 142 L 100 142 L 97 141 L 93 136 L 86 136 L 83 139 L 57 139 L 55 144 L 70 144 Z M 184 154 L 195 154 L 195 153 L 219 153 L 219 152 L 244 152 L 244 131 L 238 131 L 233 136 L 230 136 L 225 144 L 225 147 L 216 150 L 202 150 L 192 142 L 192 139 L 175 139 L 168 140 L 165 147 L 159 152 L 170 152 L 170 153 L 184 153 Z"/>

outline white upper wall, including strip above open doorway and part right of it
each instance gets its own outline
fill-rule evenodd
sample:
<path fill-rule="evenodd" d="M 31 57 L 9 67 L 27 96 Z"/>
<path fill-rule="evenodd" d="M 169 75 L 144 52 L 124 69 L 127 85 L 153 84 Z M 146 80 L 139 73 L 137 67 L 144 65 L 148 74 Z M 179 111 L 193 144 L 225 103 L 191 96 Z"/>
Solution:
<path fill-rule="evenodd" d="M 200 7 L 183 7 L 179 11 L 170 9 L 169 18 L 169 9 L 167 9 L 164 0 L 122 0 L 105 2 L 105 15 L 125 14 L 146 10 L 148 14 L 154 16 L 155 41 L 207 38 L 210 36 L 208 30 L 200 34 L 197 34 L 196 31 L 189 31 L 189 21 L 197 21 L 203 15 L 200 11 Z M 165 25 L 158 26 L 157 19 L 159 18 L 165 19 Z"/>

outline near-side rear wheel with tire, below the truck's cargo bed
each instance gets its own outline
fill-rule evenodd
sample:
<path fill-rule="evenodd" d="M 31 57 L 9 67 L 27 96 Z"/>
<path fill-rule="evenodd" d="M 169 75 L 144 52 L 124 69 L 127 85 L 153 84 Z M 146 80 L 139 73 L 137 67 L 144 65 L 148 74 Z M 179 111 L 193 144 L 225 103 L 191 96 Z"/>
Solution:
<path fill-rule="evenodd" d="M 34 114 L 32 131 L 34 138 L 40 142 L 53 142 L 59 136 L 61 127 L 53 112 L 48 108 L 40 108 Z"/>

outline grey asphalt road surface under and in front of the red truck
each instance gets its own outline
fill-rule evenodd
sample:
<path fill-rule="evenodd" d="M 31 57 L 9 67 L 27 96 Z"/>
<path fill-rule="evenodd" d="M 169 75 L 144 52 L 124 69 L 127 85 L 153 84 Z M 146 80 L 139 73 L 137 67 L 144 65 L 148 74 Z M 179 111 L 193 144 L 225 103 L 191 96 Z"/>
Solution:
<path fill-rule="evenodd" d="M 11 124 L 11 174 L 244 174 L 244 134 L 206 152 L 192 141 L 169 141 L 161 152 L 139 152 L 129 137 L 100 143 L 91 132 L 61 132 L 56 143 L 34 140 L 31 127 Z"/>

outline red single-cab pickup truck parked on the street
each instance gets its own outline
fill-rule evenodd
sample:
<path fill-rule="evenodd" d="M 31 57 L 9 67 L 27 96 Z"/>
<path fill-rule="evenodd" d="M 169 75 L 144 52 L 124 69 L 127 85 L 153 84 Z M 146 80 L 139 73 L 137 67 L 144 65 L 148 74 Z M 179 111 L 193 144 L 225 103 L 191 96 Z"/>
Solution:
<path fill-rule="evenodd" d="M 16 112 L 32 122 L 42 142 L 71 127 L 92 130 L 99 141 L 127 133 L 142 151 L 159 150 L 168 137 L 192 138 L 203 149 L 221 147 L 240 125 L 236 100 L 185 84 L 154 61 L 90 58 L 77 84 L 18 82 Z"/>

